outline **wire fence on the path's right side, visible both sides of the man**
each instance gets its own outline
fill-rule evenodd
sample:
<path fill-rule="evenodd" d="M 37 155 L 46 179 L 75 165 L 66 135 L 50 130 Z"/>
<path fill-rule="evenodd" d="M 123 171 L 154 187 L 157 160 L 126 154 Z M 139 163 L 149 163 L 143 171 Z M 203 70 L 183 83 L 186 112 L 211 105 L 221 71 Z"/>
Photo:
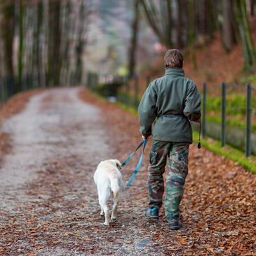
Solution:
<path fill-rule="evenodd" d="M 110 101 L 119 101 L 137 109 L 147 89 L 150 76 L 97 76 L 88 73 L 87 86 Z M 222 83 L 202 86 L 202 135 L 220 140 L 221 146 L 229 144 L 256 155 L 256 88 L 250 84 L 238 86 Z"/>

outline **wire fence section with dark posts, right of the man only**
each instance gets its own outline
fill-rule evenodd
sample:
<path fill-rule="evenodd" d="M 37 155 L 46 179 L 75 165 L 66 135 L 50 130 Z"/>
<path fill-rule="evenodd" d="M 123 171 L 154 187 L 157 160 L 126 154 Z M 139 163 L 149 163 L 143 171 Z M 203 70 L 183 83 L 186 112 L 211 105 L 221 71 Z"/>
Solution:
<path fill-rule="evenodd" d="M 219 96 L 207 94 L 203 84 L 202 135 L 220 140 L 221 146 L 230 144 L 256 155 L 256 95 L 250 84 L 240 86 L 239 93 L 231 85 L 216 86 Z"/>

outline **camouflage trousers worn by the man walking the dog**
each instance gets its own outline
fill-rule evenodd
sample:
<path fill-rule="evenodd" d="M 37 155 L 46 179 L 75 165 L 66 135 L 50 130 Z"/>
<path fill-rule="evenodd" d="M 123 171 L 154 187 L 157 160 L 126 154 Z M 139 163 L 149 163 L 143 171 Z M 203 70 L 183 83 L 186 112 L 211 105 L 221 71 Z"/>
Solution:
<path fill-rule="evenodd" d="M 184 183 L 188 173 L 189 143 L 163 142 L 154 140 L 149 154 L 149 206 L 161 208 L 163 201 L 166 161 L 166 198 L 164 199 L 165 215 L 169 223 L 180 217 Z"/>

